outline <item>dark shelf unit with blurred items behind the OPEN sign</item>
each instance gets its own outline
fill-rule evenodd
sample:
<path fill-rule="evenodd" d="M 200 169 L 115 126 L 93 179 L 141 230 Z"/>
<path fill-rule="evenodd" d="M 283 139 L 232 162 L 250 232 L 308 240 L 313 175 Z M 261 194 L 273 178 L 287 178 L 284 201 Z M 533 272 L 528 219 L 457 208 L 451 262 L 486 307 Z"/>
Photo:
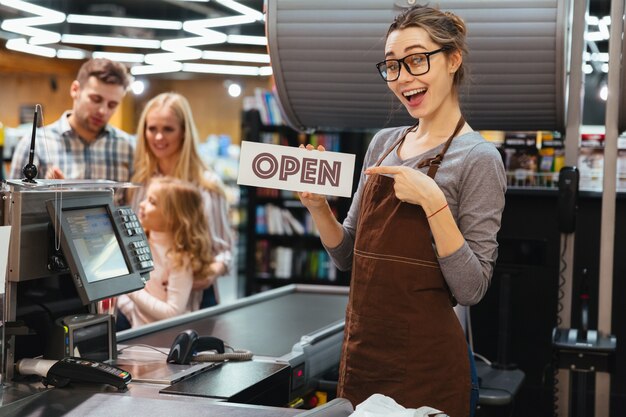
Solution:
<path fill-rule="evenodd" d="M 363 160 L 367 145 L 364 134 L 304 134 L 286 126 L 266 126 L 254 110 L 244 112 L 242 120 L 242 139 L 247 141 L 288 146 L 321 144 L 329 150 L 354 153 L 358 161 Z M 297 193 L 245 187 L 244 198 L 246 252 L 242 272 L 247 294 L 291 283 L 349 284 L 349 273 L 338 271 L 332 264 Z M 341 221 L 348 212 L 350 199 L 329 198 L 329 204 Z"/>

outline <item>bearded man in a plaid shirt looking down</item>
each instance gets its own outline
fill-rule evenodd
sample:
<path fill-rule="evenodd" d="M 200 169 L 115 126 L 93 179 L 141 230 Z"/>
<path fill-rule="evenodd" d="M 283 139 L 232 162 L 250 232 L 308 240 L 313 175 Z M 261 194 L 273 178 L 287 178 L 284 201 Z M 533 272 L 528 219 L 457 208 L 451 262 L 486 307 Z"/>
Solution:
<path fill-rule="evenodd" d="M 90 59 L 80 67 L 70 87 L 72 110 L 38 129 L 33 163 L 39 178 L 130 180 L 130 136 L 108 124 L 126 95 L 130 79 L 123 64 L 108 59 Z M 9 178 L 24 177 L 30 142 L 30 137 L 18 142 Z"/>

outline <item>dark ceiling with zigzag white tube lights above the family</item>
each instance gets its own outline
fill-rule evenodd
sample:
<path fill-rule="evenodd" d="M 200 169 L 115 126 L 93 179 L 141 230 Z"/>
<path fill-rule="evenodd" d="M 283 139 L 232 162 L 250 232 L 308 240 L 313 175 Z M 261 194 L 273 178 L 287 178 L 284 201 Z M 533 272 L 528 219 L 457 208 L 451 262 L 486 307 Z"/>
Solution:
<path fill-rule="evenodd" d="M 262 10 L 263 0 L 0 0 L 0 37 L 50 58 L 108 55 L 135 75 L 268 76 Z"/>

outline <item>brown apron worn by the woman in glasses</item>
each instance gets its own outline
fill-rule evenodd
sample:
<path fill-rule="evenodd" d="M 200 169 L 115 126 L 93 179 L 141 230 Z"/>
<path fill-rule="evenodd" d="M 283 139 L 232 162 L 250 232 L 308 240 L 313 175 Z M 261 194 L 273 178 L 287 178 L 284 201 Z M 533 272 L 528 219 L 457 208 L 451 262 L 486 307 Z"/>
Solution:
<path fill-rule="evenodd" d="M 418 164 L 430 167 L 431 178 L 464 123 L 461 117 L 440 154 Z M 427 405 L 466 417 L 471 390 L 467 342 L 424 210 L 398 200 L 393 185 L 393 178 L 373 175 L 363 191 L 338 396 L 356 406 L 381 393 L 407 408 Z"/>

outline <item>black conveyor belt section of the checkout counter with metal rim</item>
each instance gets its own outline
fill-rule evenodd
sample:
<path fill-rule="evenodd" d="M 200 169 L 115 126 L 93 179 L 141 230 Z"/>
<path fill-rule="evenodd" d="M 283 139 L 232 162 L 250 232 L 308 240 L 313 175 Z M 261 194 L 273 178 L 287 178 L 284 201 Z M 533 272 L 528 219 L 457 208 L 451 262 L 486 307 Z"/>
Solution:
<path fill-rule="evenodd" d="M 251 351 L 254 359 L 229 361 L 163 392 L 282 405 L 314 390 L 338 366 L 347 302 L 347 287 L 292 284 L 126 330 L 118 333 L 117 341 L 122 348 L 168 350 L 186 329 L 218 337 L 235 349 Z M 123 363 L 124 351 L 117 361 Z"/>

